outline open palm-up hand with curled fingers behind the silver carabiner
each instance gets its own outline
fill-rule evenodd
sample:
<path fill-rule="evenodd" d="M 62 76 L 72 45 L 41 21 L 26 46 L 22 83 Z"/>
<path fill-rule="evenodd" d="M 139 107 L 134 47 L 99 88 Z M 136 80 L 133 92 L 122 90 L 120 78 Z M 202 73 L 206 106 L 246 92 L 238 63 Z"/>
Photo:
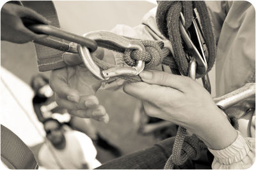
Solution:
<path fill-rule="evenodd" d="M 98 48 L 91 55 L 102 58 L 104 50 Z M 94 118 L 107 123 L 108 114 L 94 96 L 101 81 L 84 66 L 78 54 L 64 53 L 63 60 L 67 67 L 52 71 L 50 78 L 56 103 L 76 117 Z"/>

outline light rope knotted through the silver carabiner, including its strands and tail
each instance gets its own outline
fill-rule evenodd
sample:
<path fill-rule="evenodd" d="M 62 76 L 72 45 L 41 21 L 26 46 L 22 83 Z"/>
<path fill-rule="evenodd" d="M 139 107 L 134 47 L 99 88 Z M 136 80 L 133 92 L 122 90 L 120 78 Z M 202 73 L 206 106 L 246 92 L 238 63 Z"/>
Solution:
<path fill-rule="evenodd" d="M 131 38 L 128 38 L 131 39 Z M 135 66 L 136 60 L 142 60 L 145 62 L 145 68 L 153 68 L 158 66 L 159 64 L 166 64 L 170 67 L 177 68 L 175 61 L 172 58 L 170 50 L 164 47 L 164 43 L 162 41 L 152 41 L 152 40 L 138 40 L 145 47 L 145 51 L 134 50 L 134 49 L 125 49 L 122 51 L 118 46 L 114 46 L 112 44 L 100 43 L 97 41 L 99 46 L 103 48 L 108 48 L 109 50 L 114 50 L 116 52 L 124 53 L 124 61 L 128 66 Z M 97 66 L 102 70 L 109 69 L 111 67 L 115 67 L 113 64 L 109 64 L 108 62 L 104 62 L 103 60 L 97 59 L 97 57 L 92 56 L 93 61 Z M 129 76 L 122 75 L 118 76 L 124 80 L 129 81 L 141 81 L 140 76 Z"/>

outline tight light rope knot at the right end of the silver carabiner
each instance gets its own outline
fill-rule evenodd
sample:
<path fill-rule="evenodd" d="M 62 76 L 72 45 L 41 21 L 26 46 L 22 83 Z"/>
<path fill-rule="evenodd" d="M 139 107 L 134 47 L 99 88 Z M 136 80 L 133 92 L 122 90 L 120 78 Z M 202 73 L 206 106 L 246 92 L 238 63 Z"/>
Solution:
<path fill-rule="evenodd" d="M 145 68 L 156 67 L 161 64 L 163 60 L 162 41 L 141 40 L 142 45 L 145 46 L 145 51 L 125 49 L 124 61 L 129 66 L 135 66 L 136 60 L 143 60 Z"/>

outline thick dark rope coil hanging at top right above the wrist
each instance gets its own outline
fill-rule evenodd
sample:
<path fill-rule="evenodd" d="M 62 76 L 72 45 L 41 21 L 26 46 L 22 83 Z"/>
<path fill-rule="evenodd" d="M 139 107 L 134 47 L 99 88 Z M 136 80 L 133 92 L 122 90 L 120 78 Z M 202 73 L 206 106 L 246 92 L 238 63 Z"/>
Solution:
<path fill-rule="evenodd" d="M 172 42 L 173 58 L 177 64 L 177 69 L 172 69 L 175 74 L 188 75 L 189 60 L 186 54 L 193 56 L 193 53 L 185 50 L 183 41 L 180 36 L 179 18 L 182 12 L 185 20 L 185 29 L 191 26 L 193 19 L 193 9 L 196 8 L 200 16 L 200 24 L 205 38 L 205 44 L 208 50 L 207 72 L 214 65 L 216 55 L 216 43 L 212 31 L 211 20 L 207 11 L 207 6 L 204 1 L 158 1 L 156 22 L 161 33 Z M 204 76 L 205 73 L 200 73 L 196 70 L 196 78 Z"/>

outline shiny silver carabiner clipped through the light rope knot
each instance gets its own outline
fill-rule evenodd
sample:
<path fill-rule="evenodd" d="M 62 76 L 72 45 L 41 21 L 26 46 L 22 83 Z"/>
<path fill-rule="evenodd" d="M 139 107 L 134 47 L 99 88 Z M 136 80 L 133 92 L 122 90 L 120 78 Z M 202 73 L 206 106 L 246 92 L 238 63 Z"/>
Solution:
<path fill-rule="evenodd" d="M 134 50 L 145 50 L 145 47 L 139 41 L 127 39 L 108 31 L 93 31 L 88 32 L 83 36 L 94 39 L 95 41 L 99 41 L 99 46 L 104 46 L 106 43 L 108 45 L 117 46 L 118 48 L 122 49 L 129 48 Z M 93 61 L 88 48 L 83 45 L 78 45 L 77 47 L 79 55 L 81 56 L 86 67 L 88 67 L 88 69 L 100 80 L 108 80 L 110 77 L 124 74 L 138 75 L 141 73 L 141 71 L 143 71 L 145 67 L 145 62 L 142 60 L 137 60 L 136 66 L 134 67 L 112 67 L 110 69 L 101 71 L 99 66 L 97 66 L 97 64 L 95 64 Z"/>

